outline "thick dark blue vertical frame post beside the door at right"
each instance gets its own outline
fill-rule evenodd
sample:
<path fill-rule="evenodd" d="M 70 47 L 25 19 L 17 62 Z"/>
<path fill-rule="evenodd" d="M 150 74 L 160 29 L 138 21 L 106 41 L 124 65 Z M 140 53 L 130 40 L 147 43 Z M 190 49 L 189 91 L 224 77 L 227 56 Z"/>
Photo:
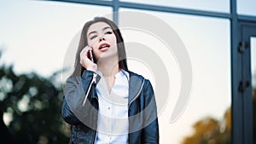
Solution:
<path fill-rule="evenodd" d="M 241 32 L 239 31 L 236 0 L 230 0 L 230 27 L 231 27 L 231 108 L 232 108 L 232 127 L 231 127 L 231 143 L 243 143 L 243 121 L 242 121 L 242 95 L 238 91 L 241 80 L 241 54 L 238 52 L 239 41 L 241 40 Z"/>

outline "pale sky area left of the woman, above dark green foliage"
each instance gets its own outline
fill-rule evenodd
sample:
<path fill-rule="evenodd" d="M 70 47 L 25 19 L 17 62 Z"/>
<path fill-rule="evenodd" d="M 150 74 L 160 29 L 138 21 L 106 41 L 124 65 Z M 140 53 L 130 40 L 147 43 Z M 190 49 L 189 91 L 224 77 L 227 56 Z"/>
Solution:
<path fill-rule="evenodd" d="M 1 2 L 4 64 L 13 64 L 16 72 L 38 72 L 45 77 L 60 70 L 69 43 L 85 20 L 95 15 L 93 9 L 97 14 L 111 12 L 109 8 L 71 3 Z"/>

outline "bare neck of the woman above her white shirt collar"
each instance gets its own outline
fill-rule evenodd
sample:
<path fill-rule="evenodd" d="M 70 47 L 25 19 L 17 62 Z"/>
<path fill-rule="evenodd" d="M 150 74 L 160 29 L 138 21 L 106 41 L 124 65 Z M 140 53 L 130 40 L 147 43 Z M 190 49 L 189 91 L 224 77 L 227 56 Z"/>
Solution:
<path fill-rule="evenodd" d="M 102 72 L 104 77 L 114 77 L 119 72 L 118 57 L 97 61 L 97 66 L 98 70 Z"/>

